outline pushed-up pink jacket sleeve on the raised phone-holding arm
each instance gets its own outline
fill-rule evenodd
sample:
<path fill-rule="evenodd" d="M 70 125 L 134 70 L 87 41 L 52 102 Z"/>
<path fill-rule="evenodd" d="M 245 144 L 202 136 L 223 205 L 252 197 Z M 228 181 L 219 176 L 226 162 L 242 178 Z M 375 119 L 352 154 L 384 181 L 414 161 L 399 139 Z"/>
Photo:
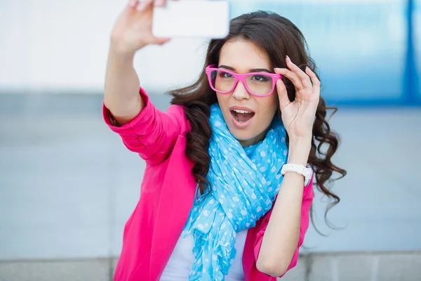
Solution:
<path fill-rule="evenodd" d="M 112 131 L 119 133 L 128 150 L 138 152 L 148 164 L 159 164 L 171 154 L 171 150 L 181 133 L 180 117 L 183 109 L 171 105 L 166 113 L 158 110 L 149 101 L 147 93 L 140 89 L 140 96 L 145 101 L 145 108 L 131 122 L 116 126 L 111 112 L 103 105 L 105 123 Z"/>

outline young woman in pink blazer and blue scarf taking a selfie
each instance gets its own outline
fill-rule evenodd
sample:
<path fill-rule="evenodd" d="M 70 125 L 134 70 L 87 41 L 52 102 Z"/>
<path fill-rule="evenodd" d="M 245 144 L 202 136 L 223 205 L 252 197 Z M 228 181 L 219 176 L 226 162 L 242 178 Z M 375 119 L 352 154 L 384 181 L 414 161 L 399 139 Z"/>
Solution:
<path fill-rule="evenodd" d="M 168 41 L 152 10 L 130 1 L 109 48 L 105 122 L 147 163 L 115 280 L 276 280 L 297 263 L 314 175 L 336 202 L 326 181 L 345 175 L 305 39 L 274 13 L 235 18 L 163 113 L 133 69 L 136 51 Z"/>

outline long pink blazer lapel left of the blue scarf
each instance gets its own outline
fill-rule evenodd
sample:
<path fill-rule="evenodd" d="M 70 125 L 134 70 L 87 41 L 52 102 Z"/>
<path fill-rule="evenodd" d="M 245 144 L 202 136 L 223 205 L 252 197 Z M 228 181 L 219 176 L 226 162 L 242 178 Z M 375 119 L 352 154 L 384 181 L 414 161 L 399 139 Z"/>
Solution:
<path fill-rule="evenodd" d="M 185 156 L 187 140 L 178 136 L 168 159 L 152 237 L 150 280 L 159 280 L 182 233 L 196 193 L 194 162 Z"/>

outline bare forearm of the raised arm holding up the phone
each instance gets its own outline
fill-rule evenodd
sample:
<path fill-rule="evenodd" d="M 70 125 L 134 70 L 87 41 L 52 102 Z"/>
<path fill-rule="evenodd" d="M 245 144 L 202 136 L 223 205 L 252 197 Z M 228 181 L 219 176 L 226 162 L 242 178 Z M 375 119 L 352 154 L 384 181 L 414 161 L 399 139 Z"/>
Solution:
<path fill-rule="evenodd" d="M 145 103 L 140 98 L 140 82 L 133 67 L 133 55 L 121 55 L 110 48 L 105 75 L 105 106 L 120 125 L 139 115 Z"/>

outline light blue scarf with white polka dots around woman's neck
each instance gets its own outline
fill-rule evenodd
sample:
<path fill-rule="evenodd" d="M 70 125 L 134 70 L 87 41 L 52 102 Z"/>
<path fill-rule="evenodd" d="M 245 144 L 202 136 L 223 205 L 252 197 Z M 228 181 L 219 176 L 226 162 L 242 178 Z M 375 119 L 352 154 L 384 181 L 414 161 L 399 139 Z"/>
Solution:
<path fill-rule="evenodd" d="M 236 255 L 236 233 L 254 227 L 272 207 L 288 155 L 286 130 L 278 117 L 264 141 L 242 148 L 229 132 L 219 105 L 210 110 L 211 192 L 195 200 L 182 232 L 183 237 L 194 237 L 190 281 L 225 280 Z"/>

